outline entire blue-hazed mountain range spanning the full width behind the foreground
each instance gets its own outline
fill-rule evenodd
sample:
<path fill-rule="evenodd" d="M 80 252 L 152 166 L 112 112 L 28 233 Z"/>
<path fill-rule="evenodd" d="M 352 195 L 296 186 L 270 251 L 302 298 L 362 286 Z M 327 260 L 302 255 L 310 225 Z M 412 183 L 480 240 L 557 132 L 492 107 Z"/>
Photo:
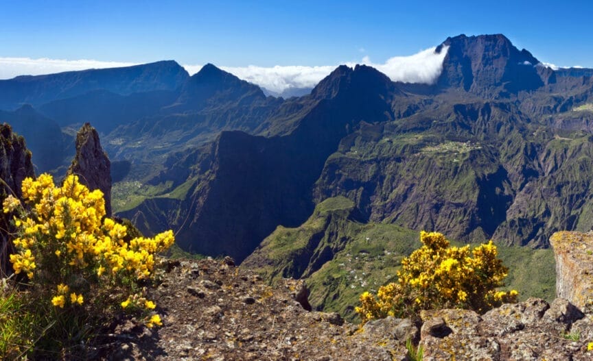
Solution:
<path fill-rule="evenodd" d="M 464 242 L 548 247 L 556 230 L 591 229 L 593 70 L 555 71 L 500 34 L 435 51 L 434 84 L 339 66 L 281 97 L 212 64 L 16 77 L 0 81 L 0 121 L 37 173 L 60 173 L 90 122 L 121 179 L 114 212 L 237 261 L 334 197 L 357 222 Z"/>

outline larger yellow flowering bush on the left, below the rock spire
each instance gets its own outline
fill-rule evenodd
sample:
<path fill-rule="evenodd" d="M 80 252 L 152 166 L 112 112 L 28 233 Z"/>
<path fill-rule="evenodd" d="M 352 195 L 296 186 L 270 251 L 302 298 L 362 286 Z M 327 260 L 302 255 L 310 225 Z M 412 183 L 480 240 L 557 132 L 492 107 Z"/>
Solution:
<path fill-rule="evenodd" d="M 65 340 L 84 337 L 97 318 L 119 310 L 141 314 L 148 327 L 161 325 L 143 282 L 154 275 L 156 253 L 173 244 L 172 231 L 129 240 L 125 225 L 106 218 L 102 192 L 76 175 L 62 186 L 47 174 L 26 178 L 22 193 L 25 204 L 12 196 L 3 202 L 16 228 L 10 262 L 14 273 L 27 275 L 37 311 L 50 315 L 56 332 Z"/>

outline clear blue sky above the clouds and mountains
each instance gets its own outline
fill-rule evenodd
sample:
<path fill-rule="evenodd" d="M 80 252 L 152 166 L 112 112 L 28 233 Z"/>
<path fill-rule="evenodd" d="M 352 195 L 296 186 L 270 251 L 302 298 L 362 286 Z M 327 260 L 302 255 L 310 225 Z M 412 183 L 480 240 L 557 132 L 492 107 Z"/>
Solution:
<path fill-rule="evenodd" d="M 542 62 L 593 67 L 592 10 L 588 1 L 0 0 L 0 58 L 382 64 L 447 36 L 502 33 Z"/>

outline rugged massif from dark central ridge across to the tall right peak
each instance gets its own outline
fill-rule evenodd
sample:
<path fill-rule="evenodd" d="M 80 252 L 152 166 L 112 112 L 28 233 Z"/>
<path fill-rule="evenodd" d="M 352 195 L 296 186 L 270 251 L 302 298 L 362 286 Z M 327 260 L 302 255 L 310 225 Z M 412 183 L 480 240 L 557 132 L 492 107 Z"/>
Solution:
<path fill-rule="evenodd" d="M 548 247 L 559 229 L 590 229 L 588 71 L 556 73 L 501 35 L 456 36 L 437 51 L 447 56 L 432 86 L 340 66 L 251 134 L 169 158 L 148 181 L 161 195 L 121 214 L 237 261 L 337 196 L 362 221 L 465 242 Z"/>

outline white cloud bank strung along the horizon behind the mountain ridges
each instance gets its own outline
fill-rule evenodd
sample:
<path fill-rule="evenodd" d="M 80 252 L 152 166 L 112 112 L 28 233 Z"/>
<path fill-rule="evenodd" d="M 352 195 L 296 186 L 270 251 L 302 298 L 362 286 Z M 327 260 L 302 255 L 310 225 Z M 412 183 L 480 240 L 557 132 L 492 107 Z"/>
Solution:
<path fill-rule="evenodd" d="M 383 64 L 373 63 L 364 57 L 360 64 L 373 66 L 386 74 L 394 82 L 432 84 L 443 70 L 443 60 L 447 49 L 440 54 L 434 47 L 410 56 L 395 56 Z M 0 58 L 0 79 L 10 79 L 17 75 L 41 75 L 77 71 L 84 69 L 115 68 L 131 66 L 131 62 L 100 62 L 97 60 L 56 60 L 30 58 Z M 346 63 L 354 66 L 356 63 Z M 324 77 L 332 73 L 339 64 L 325 66 L 220 66 L 241 79 L 281 93 L 290 88 L 313 88 Z M 189 74 L 200 71 L 201 65 L 184 65 Z"/>

